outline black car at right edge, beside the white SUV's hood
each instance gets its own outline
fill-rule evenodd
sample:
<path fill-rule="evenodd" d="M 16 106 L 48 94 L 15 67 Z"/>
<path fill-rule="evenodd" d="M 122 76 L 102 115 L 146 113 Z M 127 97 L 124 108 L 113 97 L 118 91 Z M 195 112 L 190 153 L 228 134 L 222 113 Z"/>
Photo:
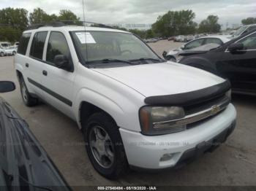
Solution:
<path fill-rule="evenodd" d="M 256 30 L 216 50 L 184 57 L 179 63 L 230 79 L 234 93 L 256 95 Z"/>

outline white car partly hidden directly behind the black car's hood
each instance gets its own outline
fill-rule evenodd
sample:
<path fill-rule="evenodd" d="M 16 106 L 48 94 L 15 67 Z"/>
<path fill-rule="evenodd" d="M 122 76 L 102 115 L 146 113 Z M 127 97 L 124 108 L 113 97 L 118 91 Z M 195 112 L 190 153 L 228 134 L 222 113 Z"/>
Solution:
<path fill-rule="evenodd" d="M 176 62 L 178 58 L 178 54 L 183 50 L 191 50 L 193 48 L 200 47 L 205 44 L 219 44 L 220 46 L 229 41 L 230 39 L 228 39 L 225 36 L 204 36 L 204 37 L 200 37 L 195 40 L 192 40 L 187 44 L 184 44 L 183 46 L 179 47 L 178 49 L 169 50 L 168 52 L 164 51 L 162 53 L 162 56 L 168 61 Z"/>

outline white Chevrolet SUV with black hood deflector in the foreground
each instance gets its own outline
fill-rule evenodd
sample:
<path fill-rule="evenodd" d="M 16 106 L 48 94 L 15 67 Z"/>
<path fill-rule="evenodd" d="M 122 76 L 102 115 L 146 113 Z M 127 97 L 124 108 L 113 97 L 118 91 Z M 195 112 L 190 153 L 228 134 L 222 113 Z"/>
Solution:
<path fill-rule="evenodd" d="M 78 122 L 94 168 L 178 167 L 235 128 L 230 83 L 163 61 L 127 31 L 83 26 L 23 32 L 15 70 L 24 103 L 53 105 Z"/>

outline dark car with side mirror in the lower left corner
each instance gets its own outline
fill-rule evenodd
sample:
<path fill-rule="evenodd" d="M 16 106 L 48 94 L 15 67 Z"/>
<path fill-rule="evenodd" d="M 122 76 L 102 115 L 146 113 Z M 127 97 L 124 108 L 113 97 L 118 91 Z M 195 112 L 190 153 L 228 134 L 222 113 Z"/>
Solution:
<path fill-rule="evenodd" d="M 0 93 L 15 90 L 0 82 Z M 71 190 L 29 125 L 0 98 L 0 190 Z"/>

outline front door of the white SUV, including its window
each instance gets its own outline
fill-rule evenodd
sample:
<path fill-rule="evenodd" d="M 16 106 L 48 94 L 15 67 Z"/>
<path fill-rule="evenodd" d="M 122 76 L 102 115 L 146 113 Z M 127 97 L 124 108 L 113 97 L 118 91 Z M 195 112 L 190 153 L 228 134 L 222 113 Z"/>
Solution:
<path fill-rule="evenodd" d="M 45 98 L 49 104 L 69 117 L 73 117 L 72 99 L 75 72 L 59 69 L 54 63 L 56 55 L 65 55 L 69 63 L 73 64 L 66 37 L 59 31 L 51 31 L 45 53 L 46 74 L 42 79 L 42 85 L 47 87 Z"/>

